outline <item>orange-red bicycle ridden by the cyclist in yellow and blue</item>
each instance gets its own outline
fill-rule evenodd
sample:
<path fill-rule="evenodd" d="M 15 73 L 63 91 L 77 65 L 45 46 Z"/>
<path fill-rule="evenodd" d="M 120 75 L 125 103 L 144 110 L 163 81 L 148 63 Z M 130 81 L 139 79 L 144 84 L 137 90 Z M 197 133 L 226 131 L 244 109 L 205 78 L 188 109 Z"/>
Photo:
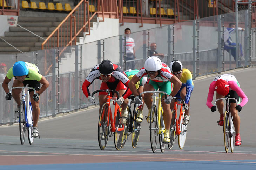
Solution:
<path fill-rule="evenodd" d="M 181 103 L 178 103 L 178 99 L 181 100 Z M 171 112 L 171 126 L 170 126 L 170 143 L 168 144 L 168 148 L 173 148 L 174 139 L 178 136 L 178 146 L 180 149 L 183 149 L 186 141 L 187 136 L 187 125 L 183 125 L 183 119 L 185 110 L 183 110 L 182 107 L 184 107 L 185 102 L 182 98 L 174 97 L 174 108 Z M 180 115 L 177 122 L 177 108 L 180 105 Z"/>

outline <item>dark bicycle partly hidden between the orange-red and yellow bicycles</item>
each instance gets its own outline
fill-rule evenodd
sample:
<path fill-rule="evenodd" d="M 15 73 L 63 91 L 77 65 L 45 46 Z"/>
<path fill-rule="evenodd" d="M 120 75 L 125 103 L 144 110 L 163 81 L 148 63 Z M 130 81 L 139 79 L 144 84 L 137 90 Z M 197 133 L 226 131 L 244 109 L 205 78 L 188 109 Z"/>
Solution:
<path fill-rule="evenodd" d="M 134 95 L 130 95 L 128 97 L 129 99 L 129 103 L 127 105 L 128 117 L 125 124 L 125 132 L 124 132 L 122 148 L 124 147 L 126 143 L 126 139 L 128 139 L 128 136 L 130 134 L 132 134 L 131 139 L 132 139 L 133 148 L 136 148 L 139 141 L 141 123 L 136 122 L 136 118 L 138 115 L 138 108 L 137 108 L 137 104 L 134 101 L 134 98 L 135 98 Z M 132 104 L 134 104 L 133 112 L 132 112 Z"/>

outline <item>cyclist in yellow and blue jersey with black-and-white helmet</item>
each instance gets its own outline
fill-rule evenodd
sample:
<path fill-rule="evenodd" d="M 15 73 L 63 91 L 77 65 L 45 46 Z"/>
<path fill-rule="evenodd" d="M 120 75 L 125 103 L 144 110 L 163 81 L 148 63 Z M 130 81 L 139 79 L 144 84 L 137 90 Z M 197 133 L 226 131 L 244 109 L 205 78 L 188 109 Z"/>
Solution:
<path fill-rule="evenodd" d="M 178 60 L 173 60 L 170 63 L 171 73 L 178 77 L 180 81 L 182 82 L 181 88 L 178 91 L 178 93 L 175 95 L 175 97 L 180 97 L 183 100 L 185 100 L 185 116 L 183 119 L 182 124 L 187 125 L 189 123 L 189 108 L 190 108 L 190 96 L 194 88 L 194 83 L 192 81 L 192 74 L 191 72 L 186 69 L 182 68 L 182 63 Z M 185 88 L 186 87 L 186 88 Z M 170 104 L 171 110 L 173 110 L 174 107 L 174 101 Z"/>

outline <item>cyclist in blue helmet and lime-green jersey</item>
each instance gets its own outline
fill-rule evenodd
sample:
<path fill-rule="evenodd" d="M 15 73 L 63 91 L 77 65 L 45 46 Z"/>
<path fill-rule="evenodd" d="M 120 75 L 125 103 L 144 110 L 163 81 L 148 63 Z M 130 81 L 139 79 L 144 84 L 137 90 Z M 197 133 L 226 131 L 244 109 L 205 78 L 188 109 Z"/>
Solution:
<path fill-rule="evenodd" d="M 36 90 L 36 94 L 34 94 L 33 90 L 29 89 L 33 115 L 32 135 L 34 138 L 36 138 L 39 136 L 39 131 L 37 128 L 38 118 L 40 114 L 39 95 L 47 89 L 47 87 L 49 86 L 49 82 L 39 73 L 39 69 L 35 64 L 23 61 L 15 62 L 13 67 L 10 68 L 7 72 L 2 86 L 6 93 L 5 99 L 11 100 L 11 98 L 13 97 L 14 100 L 17 102 L 18 111 L 20 110 L 20 93 L 22 89 L 13 89 L 12 94 L 9 93 L 8 83 L 13 77 L 15 77 L 15 80 L 13 81 L 12 87 L 23 87 L 28 85 L 29 87 L 33 87 Z M 42 87 L 40 87 L 41 84 Z"/>

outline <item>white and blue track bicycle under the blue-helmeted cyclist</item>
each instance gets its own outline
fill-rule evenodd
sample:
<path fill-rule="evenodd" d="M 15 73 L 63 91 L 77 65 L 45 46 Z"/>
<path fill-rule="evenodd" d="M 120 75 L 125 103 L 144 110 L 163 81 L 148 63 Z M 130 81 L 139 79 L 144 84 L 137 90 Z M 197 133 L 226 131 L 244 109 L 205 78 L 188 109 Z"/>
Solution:
<path fill-rule="evenodd" d="M 28 130 L 28 142 L 30 145 L 32 145 L 32 143 L 34 141 L 34 138 L 32 135 L 33 116 L 32 116 L 32 106 L 31 106 L 31 102 L 30 102 L 29 89 L 32 89 L 34 91 L 34 94 L 36 93 L 36 91 L 33 87 L 13 87 L 10 89 L 9 93 L 12 93 L 13 89 L 22 89 L 20 109 L 18 111 L 15 111 L 15 113 L 19 114 L 18 122 L 19 122 L 19 127 L 20 127 L 21 145 L 23 145 L 25 142 L 26 129 Z M 27 89 L 27 93 L 25 92 L 25 89 Z M 18 117 L 18 115 L 17 115 L 17 117 Z"/>

